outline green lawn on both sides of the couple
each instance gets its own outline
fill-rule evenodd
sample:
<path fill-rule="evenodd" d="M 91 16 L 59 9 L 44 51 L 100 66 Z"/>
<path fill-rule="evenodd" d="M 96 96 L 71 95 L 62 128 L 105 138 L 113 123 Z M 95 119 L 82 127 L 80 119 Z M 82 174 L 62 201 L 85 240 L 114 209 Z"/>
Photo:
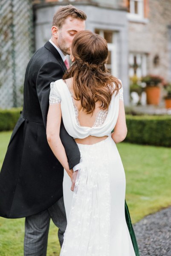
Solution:
<path fill-rule="evenodd" d="M 0 166 L 11 132 L 0 133 Z M 171 204 L 171 148 L 118 144 L 125 167 L 126 200 L 132 222 Z M 0 256 L 23 256 L 24 219 L 0 218 Z M 58 256 L 57 228 L 51 222 L 47 256 Z"/>

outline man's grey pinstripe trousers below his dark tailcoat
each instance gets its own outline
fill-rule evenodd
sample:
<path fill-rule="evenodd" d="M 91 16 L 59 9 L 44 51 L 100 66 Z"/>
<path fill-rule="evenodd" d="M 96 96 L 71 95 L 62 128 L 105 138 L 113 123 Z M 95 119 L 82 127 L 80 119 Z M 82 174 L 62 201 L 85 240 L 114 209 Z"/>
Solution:
<path fill-rule="evenodd" d="M 59 228 L 58 238 L 62 246 L 67 218 L 64 198 L 38 214 L 26 217 L 24 236 L 24 256 L 46 256 L 50 219 Z"/>

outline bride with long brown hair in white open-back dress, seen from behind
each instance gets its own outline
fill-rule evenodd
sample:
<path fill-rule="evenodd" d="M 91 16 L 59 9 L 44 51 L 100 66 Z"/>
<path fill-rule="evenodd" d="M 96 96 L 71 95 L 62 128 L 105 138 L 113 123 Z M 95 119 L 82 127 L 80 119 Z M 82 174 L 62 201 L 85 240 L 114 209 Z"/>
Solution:
<path fill-rule="evenodd" d="M 127 134 L 123 88 L 106 71 L 107 57 L 101 36 L 78 32 L 71 68 L 51 83 L 47 139 L 65 169 L 67 229 L 60 256 L 139 255 L 125 219 L 125 171 L 116 147 Z M 61 117 L 81 153 L 73 192 L 73 171 L 59 136 Z"/>

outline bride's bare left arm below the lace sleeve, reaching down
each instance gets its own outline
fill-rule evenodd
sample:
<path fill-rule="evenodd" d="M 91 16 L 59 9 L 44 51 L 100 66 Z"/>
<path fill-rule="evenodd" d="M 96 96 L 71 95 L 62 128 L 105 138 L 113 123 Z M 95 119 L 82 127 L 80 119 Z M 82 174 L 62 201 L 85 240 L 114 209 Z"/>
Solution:
<path fill-rule="evenodd" d="M 60 126 L 61 103 L 49 105 L 46 126 L 47 141 L 56 158 L 67 171 L 68 175 L 72 177 L 73 171 L 69 168 L 67 155 L 59 136 Z"/>

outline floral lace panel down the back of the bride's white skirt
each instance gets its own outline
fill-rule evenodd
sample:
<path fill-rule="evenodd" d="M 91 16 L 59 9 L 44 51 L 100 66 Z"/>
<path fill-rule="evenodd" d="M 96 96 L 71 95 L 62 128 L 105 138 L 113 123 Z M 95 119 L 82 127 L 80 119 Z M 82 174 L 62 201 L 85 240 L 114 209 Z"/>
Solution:
<path fill-rule="evenodd" d="M 110 168 L 105 141 L 100 143 L 101 147 L 78 145 L 81 169 L 60 256 L 110 255 Z"/>

